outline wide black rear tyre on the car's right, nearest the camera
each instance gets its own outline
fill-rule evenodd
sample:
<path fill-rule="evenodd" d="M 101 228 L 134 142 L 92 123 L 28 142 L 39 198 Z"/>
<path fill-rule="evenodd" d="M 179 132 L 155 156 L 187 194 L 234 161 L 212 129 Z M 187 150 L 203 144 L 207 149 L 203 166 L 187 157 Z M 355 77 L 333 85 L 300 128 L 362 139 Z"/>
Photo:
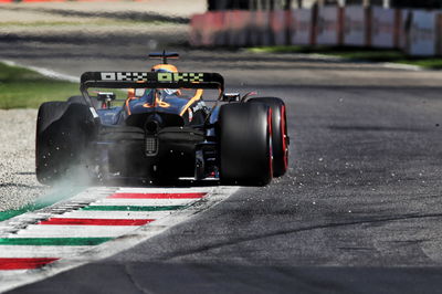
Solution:
<path fill-rule="evenodd" d="M 264 104 L 233 103 L 219 115 L 221 183 L 264 186 L 272 180 L 272 111 Z"/>

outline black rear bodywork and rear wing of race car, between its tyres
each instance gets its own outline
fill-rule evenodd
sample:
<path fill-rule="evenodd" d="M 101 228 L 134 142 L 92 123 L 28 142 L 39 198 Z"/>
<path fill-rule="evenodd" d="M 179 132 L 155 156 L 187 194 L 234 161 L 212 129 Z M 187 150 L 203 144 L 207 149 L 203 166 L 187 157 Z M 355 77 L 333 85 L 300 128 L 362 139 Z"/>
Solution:
<path fill-rule="evenodd" d="M 90 143 L 92 159 L 99 177 L 177 179 L 194 177 L 196 155 L 210 148 L 214 134 L 217 107 L 206 106 L 204 88 L 223 91 L 223 78 L 215 73 L 88 72 L 81 78 L 81 90 L 96 120 L 96 137 Z M 98 107 L 87 88 L 149 90 L 147 99 L 135 97 L 123 106 Z M 196 88 L 193 97 L 169 95 L 157 98 L 164 88 Z M 219 97 L 215 97 L 219 98 Z M 95 112 L 95 113 L 94 113 Z M 212 144 L 213 145 L 213 144 Z M 214 167 L 214 166 L 213 166 Z M 214 169 L 206 174 L 215 176 Z"/>

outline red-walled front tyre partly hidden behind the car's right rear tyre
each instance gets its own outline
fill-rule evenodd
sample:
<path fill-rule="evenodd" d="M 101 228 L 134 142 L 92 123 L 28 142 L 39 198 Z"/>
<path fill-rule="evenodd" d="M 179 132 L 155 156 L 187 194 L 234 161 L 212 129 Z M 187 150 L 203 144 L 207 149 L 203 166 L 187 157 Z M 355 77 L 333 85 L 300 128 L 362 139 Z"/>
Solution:
<path fill-rule="evenodd" d="M 249 103 L 262 103 L 272 108 L 273 176 L 281 177 L 288 168 L 288 135 L 285 104 L 276 97 L 251 98 Z"/>

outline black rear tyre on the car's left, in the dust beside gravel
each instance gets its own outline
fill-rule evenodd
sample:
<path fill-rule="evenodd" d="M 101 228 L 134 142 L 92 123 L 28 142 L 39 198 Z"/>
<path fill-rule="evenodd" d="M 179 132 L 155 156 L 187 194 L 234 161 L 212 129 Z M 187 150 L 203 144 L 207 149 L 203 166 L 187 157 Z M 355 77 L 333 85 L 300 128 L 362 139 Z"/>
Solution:
<path fill-rule="evenodd" d="M 43 185 L 54 185 L 80 167 L 93 136 L 94 120 L 87 106 L 43 103 L 36 118 L 36 179 Z"/>

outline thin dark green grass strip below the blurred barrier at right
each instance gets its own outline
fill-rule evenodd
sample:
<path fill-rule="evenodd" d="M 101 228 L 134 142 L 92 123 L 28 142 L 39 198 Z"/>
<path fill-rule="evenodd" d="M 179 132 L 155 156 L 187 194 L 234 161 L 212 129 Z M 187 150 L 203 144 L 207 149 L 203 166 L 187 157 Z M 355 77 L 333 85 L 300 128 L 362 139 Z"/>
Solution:
<path fill-rule="evenodd" d="M 441 57 L 412 57 L 399 50 L 372 50 L 334 46 L 260 46 L 250 48 L 255 53 L 316 53 L 327 56 L 337 56 L 350 61 L 392 62 L 399 64 L 418 65 L 430 70 L 441 70 Z"/>

